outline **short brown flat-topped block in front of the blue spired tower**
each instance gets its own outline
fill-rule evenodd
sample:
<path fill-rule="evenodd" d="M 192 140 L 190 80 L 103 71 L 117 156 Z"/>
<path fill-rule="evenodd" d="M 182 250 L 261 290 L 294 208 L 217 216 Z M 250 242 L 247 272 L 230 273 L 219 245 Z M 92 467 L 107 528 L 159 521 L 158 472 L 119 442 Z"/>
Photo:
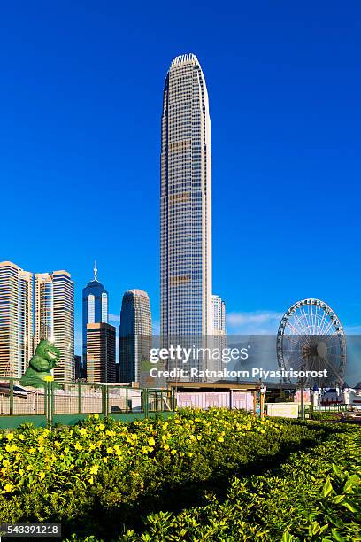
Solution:
<path fill-rule="evenodd" d="M 115 382 L 114 326 L 97 322 L 87 324 L 87 382 Z"/>

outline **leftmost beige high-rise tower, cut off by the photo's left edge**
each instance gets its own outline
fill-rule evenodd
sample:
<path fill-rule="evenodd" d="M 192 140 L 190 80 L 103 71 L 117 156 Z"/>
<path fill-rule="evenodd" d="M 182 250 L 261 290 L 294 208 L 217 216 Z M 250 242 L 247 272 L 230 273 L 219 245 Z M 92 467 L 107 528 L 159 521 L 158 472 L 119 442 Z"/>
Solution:
<path fill-rule="evenodd" d="M 0 376 L 20 378 L 33 355 L 33 274 L 0 262 Z"/>

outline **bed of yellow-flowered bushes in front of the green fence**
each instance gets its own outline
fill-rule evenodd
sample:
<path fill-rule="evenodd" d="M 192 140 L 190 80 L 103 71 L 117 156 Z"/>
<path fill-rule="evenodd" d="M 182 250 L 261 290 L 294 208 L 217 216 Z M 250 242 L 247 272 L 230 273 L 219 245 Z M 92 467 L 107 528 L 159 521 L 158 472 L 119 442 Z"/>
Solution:
<path fill-rule="evenodd" d="M 3 431 L 0 523 L 62 523 L 65 533 L 77 533 L 76 539 L 93 533 L 116 538 L 124 524 L 127 534 L 121 539 L 135 540 L 145 528 L 140 517 L 157 518 L 163 510 L 166 518 L 171 514 L 162 522 L 170 522 L 166 529 L 175 538 L 162 538 L 165 527 L 160 528 L 162 522 L 157 520 L 152 538 L 142 539 L 200 540 L 196 530 L 192 536 L 187 529 L 180 534 L 181 525 L 202 515 L 207 510 L 204 504 L 219 514 L 230 476 L 262 476 L 290 453 L 326 442 L 335 430 L 318 423 L 261 422 L 250 414 L 212 409 L 180 411 L 168 421 L 146 419 L 126 425 L 95 415 L 79 426 L 53 432 L 30 426 Z M 285 499 L 292 502 L 294 494 L 284 489 Z M 229 492 L 234 491 L 233 485 Z M 214 502 L 207 504 L 206 492 L 219 500 L 213 497 Z M 229 492 L 228 500 L 234 494 L 230 497 Z M 180 512 L 192 505 L 199 508 Z M 236 513 L 238 505 L 229 506 Z M 189 514 L 189 519 L 181 519 L 182 514 Z"/>

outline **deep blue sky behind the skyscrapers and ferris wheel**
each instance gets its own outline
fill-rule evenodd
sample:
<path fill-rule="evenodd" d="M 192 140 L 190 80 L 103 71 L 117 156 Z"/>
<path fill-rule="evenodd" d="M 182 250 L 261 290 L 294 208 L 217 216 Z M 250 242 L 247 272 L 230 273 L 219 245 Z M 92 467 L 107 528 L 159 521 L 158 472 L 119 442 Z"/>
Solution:
<path fill-rule="evenodd" d="M 2 5 L 0 259 L 69 270 L 78 330 L 95 258 L 111 314 L 141 288 L 158 321 L 162 91 L 194 52 L 228 329 L 317 297 L 360 331 L 361 4 L 130 4 Z"/>

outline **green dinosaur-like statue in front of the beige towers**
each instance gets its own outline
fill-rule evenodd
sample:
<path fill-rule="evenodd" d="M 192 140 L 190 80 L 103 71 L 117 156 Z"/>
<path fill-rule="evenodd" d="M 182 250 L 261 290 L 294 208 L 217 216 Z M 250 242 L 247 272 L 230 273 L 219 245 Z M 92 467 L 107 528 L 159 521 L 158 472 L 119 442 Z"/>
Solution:
<path fill-rule="evenodd" d="M 29 361 L 29 367 L 19 383 L 23 386 L 42 388 L 44 383 L 54 379 L 51 375 L 51 369 L 57 367 L 59 361 L 58 348 L 49 341 L 40 341 L 36 346 L 35 355 Z M 57 384 L 55 386 L 58 387 Z"/>

